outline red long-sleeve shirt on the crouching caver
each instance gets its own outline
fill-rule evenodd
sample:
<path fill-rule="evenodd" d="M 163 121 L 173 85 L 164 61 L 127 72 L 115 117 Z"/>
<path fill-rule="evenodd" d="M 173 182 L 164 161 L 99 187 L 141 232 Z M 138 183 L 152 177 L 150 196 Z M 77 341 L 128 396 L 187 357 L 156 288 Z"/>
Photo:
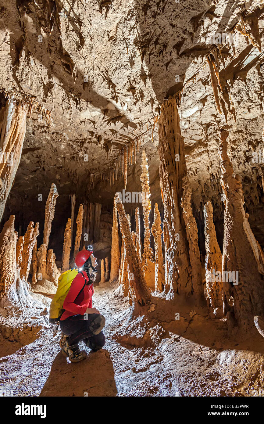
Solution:
<path fill-rule="evenodd" d="M 92 308 L 92 295 L 94 294 L 94 285 L 86 284 L 83 288 L 84 282 L 88 282 L 88 276 L 85 271 L 78 273 L 73 279 L 69 292 L 64 299 L 63 309 L 65 312 L 61 315 L 61 321 L 72 315 L 84 315 L 87 308 Z M 81 293 L 80 293 L 81 292 Z"/>

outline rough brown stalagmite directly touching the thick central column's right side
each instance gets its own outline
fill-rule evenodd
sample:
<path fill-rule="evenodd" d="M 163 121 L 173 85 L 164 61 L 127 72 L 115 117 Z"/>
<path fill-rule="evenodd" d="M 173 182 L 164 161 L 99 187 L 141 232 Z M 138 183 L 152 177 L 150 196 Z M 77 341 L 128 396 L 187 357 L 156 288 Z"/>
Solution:
<path fill-rule="evenodd" d="M 198 229 L 196 220 L 192 215 L 191 196 L 192 191 L 187 176 L 182 181 L 183 195 L 181 198 L 181 208 L 185 222 L 186 236 L 189 244 L 189 258 L 192 267 L 192 287 L 193 294 L 200 301 L 204 299 L 204 290 L 202 283 L 202 265 L 200 260 L 200 249 L 198 246 Z"/>

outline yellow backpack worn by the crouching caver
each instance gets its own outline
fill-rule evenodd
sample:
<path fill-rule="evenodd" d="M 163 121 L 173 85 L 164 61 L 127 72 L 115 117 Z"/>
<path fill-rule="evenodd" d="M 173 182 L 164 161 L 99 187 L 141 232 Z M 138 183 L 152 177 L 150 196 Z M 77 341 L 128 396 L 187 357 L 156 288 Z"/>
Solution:
<path fill-rule="evenodd" d="M 63 309 L 64 299 L 66 298 L 69 292 L 69 289 L 71 287 L 72 281 L 75 279 L 77 274 L 78 274 L 78 270 L 76 268 L 73 268 L 72 270 L 69 269 L 68 271 L 63 272 L 61 276 L 59 277 L 58 288 L 50 304 L 50 317 L 49 317 L 50 323 L 58 324 L 58 322 L 60 321 L 61 315 L 64 312 L 64 309 Z M 85 283 L 83 285 L 83 288 L 84 286 L 85 286 Z"/>

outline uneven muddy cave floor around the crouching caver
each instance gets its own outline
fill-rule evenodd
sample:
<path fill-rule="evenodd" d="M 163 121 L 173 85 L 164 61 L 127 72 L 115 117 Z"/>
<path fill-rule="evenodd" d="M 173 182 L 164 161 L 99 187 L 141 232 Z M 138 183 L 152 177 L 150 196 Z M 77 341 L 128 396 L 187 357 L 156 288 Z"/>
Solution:
<path fill-rule="evenodd" d="M 132 346 L 115 336 L 128 302 L 97 286 L 93 305 L 106 317 L 106 344 L 92 352 L 81 342 L 88 357 L 72 364 L 60 351 L 60 331 L 39 315 L 50 299 L 32 296 L 33 309 L 0 321 L 0 386 L 13 396 L 256 396 L 264 389 L 264 339 L 255 329 L 234 338 L 224 320 L 186 307 L 179 321 L 156 322 L 154 343 Z"/>

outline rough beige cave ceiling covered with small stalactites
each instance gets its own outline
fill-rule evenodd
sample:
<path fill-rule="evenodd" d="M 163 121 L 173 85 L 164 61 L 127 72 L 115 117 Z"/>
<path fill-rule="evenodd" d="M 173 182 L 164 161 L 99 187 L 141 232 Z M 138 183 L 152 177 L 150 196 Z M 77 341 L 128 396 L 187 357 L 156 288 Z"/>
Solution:
<path fill-rule="evenodd" d="M 254 167 L 250 155 L 263 148 L 264 127 L 261 3 L 2 0 L 0 88 L 15 98 L 33 98 L 51 118 L 47 123 L 43 114 L 28 112 L 12 192 L 33 196 L 55 182 L 61 195 L 85 192 L 92 200 L 110 200 L 124 188 L 120 169 L 109 184 L 115 160 L 137 137 L 154 184 L 155 117 L 164 98 L 176 96 L 195 207 L 208 197 L 221 206 L 220 128 L 230 133 L 234 170 L 255 184 L 244 187 L 254 204 L 261 165 Z M 237 26 L 241 17 L 244 33 Z M 219 75 L 228 84 L 229 105 L 220 114 L 207 63 L 214 47 L 208 36 L 234 28 L 236 42 L 222 46 Z M 140 189 L 140 181 L 134 182 L 140 171 L 138 160 L 129 168 L 128 189 Z"/>

